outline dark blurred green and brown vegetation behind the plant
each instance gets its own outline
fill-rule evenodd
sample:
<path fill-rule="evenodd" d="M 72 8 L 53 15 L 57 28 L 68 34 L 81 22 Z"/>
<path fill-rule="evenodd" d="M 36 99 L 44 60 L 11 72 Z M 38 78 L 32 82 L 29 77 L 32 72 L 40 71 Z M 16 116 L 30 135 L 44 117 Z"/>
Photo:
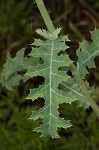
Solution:
<path fill-rule="evenodd" d="M 67 50 L 75 59 L 77 41 L 90 40 L 90 32 L 99 28 L 98 0 L 44 0 L 56 27 L 62 27 L 63 34 L 69 34 L 72 42 Z M 7 54 L 12 56 L 20 48 L 37 37 L 35 29 L 46 28 L 34 0 L 0 0 L 0 70 Z M 96 75 L 90 71 L 90 84 L 99 85 L 99 59 L 96 61 Z M 0 85 L 0 150 L 99 150 L 99 119 L 91 108 L 84 110 L 73 105 L 61 104 L 61 117 L 74 125 L 68 130 L 59 129 L 59 139 L 40 138 L 33 128 L 41 121 L 28 120 L 32 110 L 44 105 L 42 99 L 26 100 L 33 83 L 20 84 L 14 92 Z M 99 90 L 99 88 L 97 88 Z M 97 92 L 99 93 L 99 91 Z M 97 98 L 99 103 L 99 94 Z"/>

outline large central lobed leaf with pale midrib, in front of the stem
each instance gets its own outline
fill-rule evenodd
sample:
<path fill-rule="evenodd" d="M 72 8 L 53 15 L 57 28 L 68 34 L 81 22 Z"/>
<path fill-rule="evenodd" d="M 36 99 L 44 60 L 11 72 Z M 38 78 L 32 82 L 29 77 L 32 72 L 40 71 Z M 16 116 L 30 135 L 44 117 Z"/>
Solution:
<path fill-rule="evenodd" d="M 44 63 L 38 64 L 37 66 L 30 66 L 26 73 L 26 76 L 29 77 L 43 76 L 45 78 L 43 85 L 37 89 L 30 90 L 27 99 L 35 100 L 38 97 L 45 99 L 44 107 L 32 112 L 30 119 L 36 120 L 41 118 L 43 124 L 35 130 L 42 132 L 42 136 L 51 136 L 53 138 L 58 137 L 58 128 L 62 127 L 66 129 L 71 126 L 69 121 L 59 117 L 59 104 L 75 101 L 72 95 L 65 92 L 63 93 L 58 89 L 58 84 L 69 78 L 68 75 L 66 75 L 64 71 L 60 71 L 59 68 L 62 66 L 68 68 L 72 63 L 67 55 L 59 55 L 60 51 L 64 51 L 67 48 L 65 40 L 67 40 L 67 37 L 58 36 L 46 41 L 35 39 L 32 44 L 34 47 L 32 48 L 30 56 L 42 57 Z"/>

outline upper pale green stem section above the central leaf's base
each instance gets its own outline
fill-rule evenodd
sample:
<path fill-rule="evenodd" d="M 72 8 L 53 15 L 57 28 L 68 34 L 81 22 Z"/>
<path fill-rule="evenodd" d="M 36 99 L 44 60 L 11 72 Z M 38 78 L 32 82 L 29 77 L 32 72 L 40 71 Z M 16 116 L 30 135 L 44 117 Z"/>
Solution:
<path fill-rule="evenodd" d="M 49 14 L 48 14 L 48 11 L 47 11 L 47 9 L 46 9 L 46 7 L 44 5 L 43 0 L 35 0 L 35 2 L 36 2 L 37 6 L 39 8 L 41 16 L 42 16 L 42 18 L 43 18 L 43 20 L 44 20 L 44 22 L 45 22 L 49 32 L 53 33 L 54 30 L 55 30 L 55 27 L 54 27 L 54 25 L 53 25 L 53 23 L 51 21 L 51 18 L 50 18 Z"/>

